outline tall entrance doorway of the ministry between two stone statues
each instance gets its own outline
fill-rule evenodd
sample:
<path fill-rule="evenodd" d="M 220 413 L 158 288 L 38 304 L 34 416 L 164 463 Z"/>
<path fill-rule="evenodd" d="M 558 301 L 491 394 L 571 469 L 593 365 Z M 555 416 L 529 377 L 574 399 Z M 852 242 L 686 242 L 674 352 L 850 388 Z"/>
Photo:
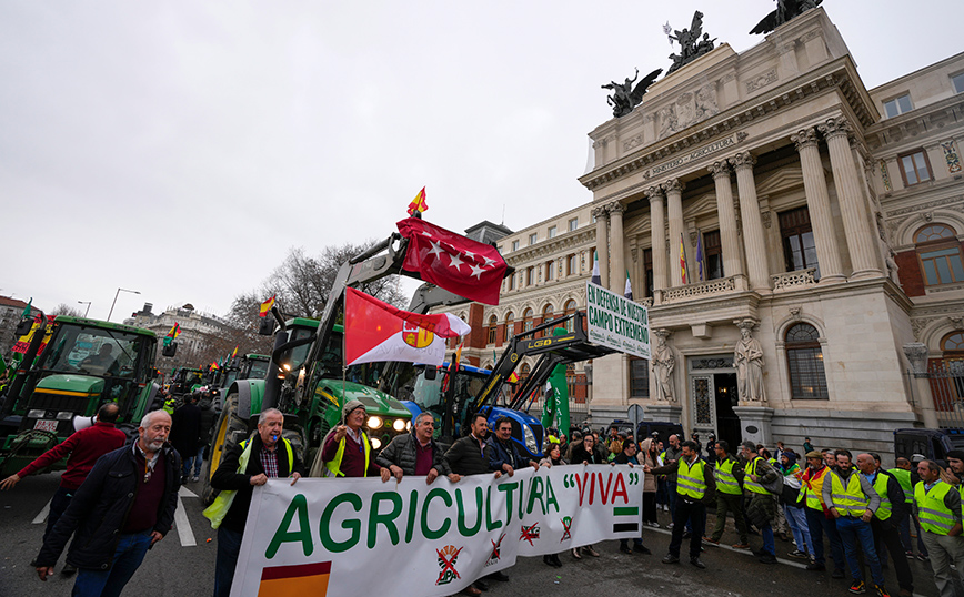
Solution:
<path fill-rule="evenodd" d="M 733 355 L 691 356 L 686 358 L 690 394 L 690 432 L 701 441 L 709 434 L 726 439 L 730 449 L 740 442 L 740 418 L 733 412 L 736 371 Z"/>

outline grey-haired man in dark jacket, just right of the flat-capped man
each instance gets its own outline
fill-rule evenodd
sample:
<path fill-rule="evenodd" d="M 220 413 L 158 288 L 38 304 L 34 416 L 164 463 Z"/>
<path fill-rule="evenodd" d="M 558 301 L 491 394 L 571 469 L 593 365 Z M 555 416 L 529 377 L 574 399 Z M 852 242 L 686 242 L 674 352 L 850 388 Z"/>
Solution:
<path fill-rule="evenodd" d="M 424 476 L 428 485 L 439 475 L 445 475 L 451 482 L 461 479 L 462 477 L 449 468 L 442 448 L 432 438 L 434 433 L 435 418 L 432 413 L 419 413 L 412 433 L 395 436 L 379 453 L 375 463 L 388 468 L 398 480 L 402 480 L 404 475 Z"/>

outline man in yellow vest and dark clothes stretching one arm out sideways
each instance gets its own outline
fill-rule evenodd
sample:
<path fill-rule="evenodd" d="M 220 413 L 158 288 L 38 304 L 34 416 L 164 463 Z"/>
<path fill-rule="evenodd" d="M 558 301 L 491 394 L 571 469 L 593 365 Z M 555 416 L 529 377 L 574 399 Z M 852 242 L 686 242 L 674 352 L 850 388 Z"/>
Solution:
<path fill-rule="evenodd" d="M 663 558 L 663 564 L 679 564 L 680 548 L 683 545 L 683 530 L 686 522 L 692 525 L 690 536 L 690 564 L 697 568 L 706 568 L 700 560 L 703 548 L 703 520 L 706 517 L 706 504 L 712 504 L 716 492 L 713 469 L 702 458 L 695 442 L 683 442 L 680 448 L 680 459 L 666 466 L 643 470 L 653 475 L 676 475 L 676 510 L 673 513 L 673 538 L 670 540 L 670 553 Z"/>

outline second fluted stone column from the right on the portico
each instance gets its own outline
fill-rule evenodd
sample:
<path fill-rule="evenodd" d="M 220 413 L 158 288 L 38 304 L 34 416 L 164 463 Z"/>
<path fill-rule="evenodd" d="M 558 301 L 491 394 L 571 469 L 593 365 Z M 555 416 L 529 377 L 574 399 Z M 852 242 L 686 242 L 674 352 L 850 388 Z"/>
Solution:
<path fill-rule="evenodd" d="M 800 164 L 803 170 L 803 190 L 806 194 L 806 206 L 810 211 L 810 223 L 813 226 L 813 241 L 816 245 L 816 262 L 820 265 L 821 284 L 843 282 L 843 266 L 840 261 L 840 247 L 833 230 L 833 217 L 830 211 L 830 195 L 826 192 L 826 176 L 820 161 L 820 140 L 816 129 L 803 129 L 791 141 L 800 153 Z"/>

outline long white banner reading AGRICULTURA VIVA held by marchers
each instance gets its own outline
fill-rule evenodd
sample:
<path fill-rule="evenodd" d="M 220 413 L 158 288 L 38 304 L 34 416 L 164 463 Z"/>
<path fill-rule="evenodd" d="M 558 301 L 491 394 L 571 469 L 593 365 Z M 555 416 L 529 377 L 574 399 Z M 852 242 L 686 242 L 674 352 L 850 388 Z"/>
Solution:
<path fill-rule="evenodd" d="M 453 595 L 518 556 L 639 537 L 641 467 L 255 487 L 232 597 Z"/>

